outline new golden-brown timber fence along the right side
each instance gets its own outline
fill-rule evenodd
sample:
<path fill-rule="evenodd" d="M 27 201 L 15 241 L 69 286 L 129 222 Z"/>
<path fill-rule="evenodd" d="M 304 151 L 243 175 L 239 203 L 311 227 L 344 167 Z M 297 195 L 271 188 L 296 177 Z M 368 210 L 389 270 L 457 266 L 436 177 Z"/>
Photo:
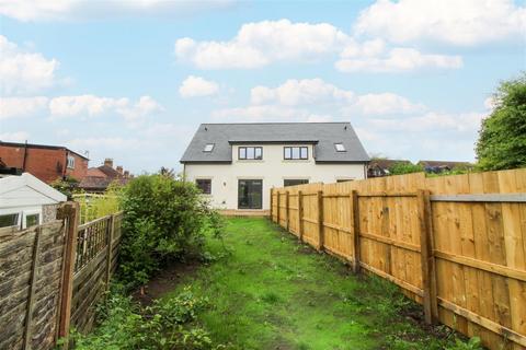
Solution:
<path fill-rule="evenodd" d="M 271 189 L 271 218 L 490 349 L 526 349 L 526 170 Z"/>

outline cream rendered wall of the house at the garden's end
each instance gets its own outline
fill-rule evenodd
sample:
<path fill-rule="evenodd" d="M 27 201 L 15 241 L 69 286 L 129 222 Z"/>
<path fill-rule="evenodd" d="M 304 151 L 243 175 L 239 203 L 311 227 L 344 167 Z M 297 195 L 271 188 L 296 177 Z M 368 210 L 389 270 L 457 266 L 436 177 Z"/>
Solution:
<path fill-rule="evenodd" d="M 284 179 L 335 183 L 338 179 L 363 179 L 365 176 L 365 164 L 317 164 L 312 159 L 312 144 L 288 145 L 307 145 L 309 159 L 285 161 L 283 144 L 263 144 L 263 160 L 243 161 L 238 160 L 238 148 L 243 145 L 232 145 L 232 164 L 185 164 L 185 178 L 188 182 L 210 178 L 210 201 L 219 209 L 238 209 L 238 179 L 262 179 L 263 209 L 268 209 L 270 189 L 283 187 Z"/>

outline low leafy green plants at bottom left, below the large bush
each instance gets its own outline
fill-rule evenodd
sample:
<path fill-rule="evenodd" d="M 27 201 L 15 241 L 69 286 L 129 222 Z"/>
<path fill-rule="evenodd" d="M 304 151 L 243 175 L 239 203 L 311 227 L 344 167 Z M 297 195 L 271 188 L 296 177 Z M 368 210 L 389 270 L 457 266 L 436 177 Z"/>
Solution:
<path fill-rule="evenodd" d="M 181 294 L 141 307 L 122 293 L 110 295 L 99 311 L 100 326 L 88 336 L 73 332 L 75 349 L 219 349 L 208 332 L 193 325 L 207 301 L 185 288 Z"/>

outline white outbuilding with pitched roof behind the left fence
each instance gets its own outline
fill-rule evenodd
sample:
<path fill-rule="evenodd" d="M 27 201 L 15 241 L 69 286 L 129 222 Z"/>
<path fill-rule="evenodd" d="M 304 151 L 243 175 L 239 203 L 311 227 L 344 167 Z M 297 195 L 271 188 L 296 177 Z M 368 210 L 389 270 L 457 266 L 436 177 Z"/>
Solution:
<path fill-rule="evenodd" d="M 30 173 L 0 177 L 0 228 L 25 229 L 55 219 L 67 197 Z"/>

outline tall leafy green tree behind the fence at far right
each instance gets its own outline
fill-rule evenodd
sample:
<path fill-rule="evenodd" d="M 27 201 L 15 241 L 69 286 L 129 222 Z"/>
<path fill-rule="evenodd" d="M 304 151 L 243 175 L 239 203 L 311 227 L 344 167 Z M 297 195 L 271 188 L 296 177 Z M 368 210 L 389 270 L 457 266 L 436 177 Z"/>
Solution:
<path fill-rule="evenodd" d="M 479 131 L 479 167 L 504 170 L 526 166 L 526 73 L 502 82 L 493 98 L 493 112 L 482 120 Z"/>

